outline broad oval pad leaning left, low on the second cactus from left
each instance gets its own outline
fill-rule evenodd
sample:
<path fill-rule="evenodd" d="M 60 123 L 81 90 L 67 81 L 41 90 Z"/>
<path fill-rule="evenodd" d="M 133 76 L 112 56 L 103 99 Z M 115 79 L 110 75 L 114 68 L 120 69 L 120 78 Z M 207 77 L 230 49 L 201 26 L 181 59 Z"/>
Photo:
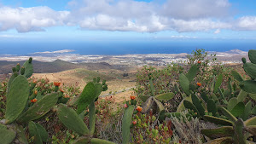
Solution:
<path fill-rule="evenodd" d="M 72 109 L 64 104 L 59 104 L 57 107 L 58 118 L 61 123 L 68 129 L 75 131 L 79 135 L 89 135 L 90 130 L 84 124 L 84 121 L 79 118 L 79 115 Z"/>

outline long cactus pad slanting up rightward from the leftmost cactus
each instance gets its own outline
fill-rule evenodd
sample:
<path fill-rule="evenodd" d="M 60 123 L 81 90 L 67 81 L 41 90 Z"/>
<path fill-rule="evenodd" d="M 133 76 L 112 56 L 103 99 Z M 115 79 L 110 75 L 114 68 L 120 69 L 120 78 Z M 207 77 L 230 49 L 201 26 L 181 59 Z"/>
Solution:
<path fill-rule="evenodd" d="M 41 100 L 37 101 L 32 107 L 22 113 L 17 119 L 18 123 L 27 123 L 44 116 L 45 113 L 55 106 L 59 98 L 59 93 L 51 93 L 45 95 Z"/>

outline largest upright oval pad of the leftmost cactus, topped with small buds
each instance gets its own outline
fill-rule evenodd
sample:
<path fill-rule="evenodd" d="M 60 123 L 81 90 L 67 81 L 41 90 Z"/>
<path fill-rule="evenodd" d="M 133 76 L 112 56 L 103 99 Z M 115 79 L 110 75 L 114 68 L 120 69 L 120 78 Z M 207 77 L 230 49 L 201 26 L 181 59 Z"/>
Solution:
<path fill-rule="evenodd" d="M 10 85 L 6 103 L 6 124 L 10 124 L 19 117 L 20 113 L 26 107 L 26 102 L 29 95 L 29 84 L 26 78 L 22 75 L 15 78 Z"/>

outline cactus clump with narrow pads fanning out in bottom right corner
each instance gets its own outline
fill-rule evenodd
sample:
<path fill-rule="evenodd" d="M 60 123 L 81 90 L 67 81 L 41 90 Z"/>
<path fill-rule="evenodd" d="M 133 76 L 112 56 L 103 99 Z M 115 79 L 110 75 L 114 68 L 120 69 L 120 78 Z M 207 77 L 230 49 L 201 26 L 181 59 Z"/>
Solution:
<path fill-rule="evenodd" d="M 224 125 L 217 129 L 201 130 L 202 134 L 207 135 L 207 137 L 212 139 L 212 141 L 208 141 L 208 143 L 246 144 L 250 142 L 247 141 L 248 137 L 256 135 L 256 117 L 243 121 L 241 118 L 236 118 L 224 107 L 219 107 L 218 110 L 226 117 L 230 118 L 230 120 L 213 116 L 204 116 L 209 122 Z"/>

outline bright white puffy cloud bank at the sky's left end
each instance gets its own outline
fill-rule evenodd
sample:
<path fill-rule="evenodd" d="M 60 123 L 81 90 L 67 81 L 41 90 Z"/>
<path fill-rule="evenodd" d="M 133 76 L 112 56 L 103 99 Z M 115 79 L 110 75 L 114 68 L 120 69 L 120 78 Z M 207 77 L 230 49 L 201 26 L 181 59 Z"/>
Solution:
<path fill-rule="evenodd" d="M 63 25 L 67 11 L 48 7 L 0 8 L 0 31 L 15 28 L 18 32 L 44 31 L 44 27 Z"/>

